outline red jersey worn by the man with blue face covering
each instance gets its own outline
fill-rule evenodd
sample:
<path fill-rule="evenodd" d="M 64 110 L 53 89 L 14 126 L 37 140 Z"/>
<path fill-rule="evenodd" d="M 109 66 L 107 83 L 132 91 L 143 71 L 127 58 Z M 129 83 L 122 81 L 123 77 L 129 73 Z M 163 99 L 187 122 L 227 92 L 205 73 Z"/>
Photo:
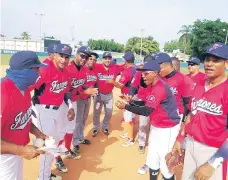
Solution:
<path fill-rule="evenodd" d="M 1 138 L 17 145 L 29 143 L 31 127 L 30 91 L 21 91 L 8 78 L 1 79 Z"/>

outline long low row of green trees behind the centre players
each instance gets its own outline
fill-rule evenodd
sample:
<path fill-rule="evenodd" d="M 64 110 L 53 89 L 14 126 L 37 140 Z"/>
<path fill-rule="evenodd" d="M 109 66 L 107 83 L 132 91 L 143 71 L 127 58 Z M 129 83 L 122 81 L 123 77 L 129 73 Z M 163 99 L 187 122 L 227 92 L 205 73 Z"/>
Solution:
<path fill-rule="evenodd" d="M 107 40 L 94 40 L 89 39 L 88 46 L 93 50 L 112 51 L 112 52 L 123 52 L 124 45 L 115 42 L 113 39 Z"/>

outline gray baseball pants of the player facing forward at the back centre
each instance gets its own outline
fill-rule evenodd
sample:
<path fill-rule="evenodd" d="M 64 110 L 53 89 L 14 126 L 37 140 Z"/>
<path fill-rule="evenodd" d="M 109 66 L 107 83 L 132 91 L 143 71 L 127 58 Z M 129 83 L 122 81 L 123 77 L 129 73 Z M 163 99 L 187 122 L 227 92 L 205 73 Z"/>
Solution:
<path fill-rule="evenodd" d="M 94 97 L 93 107 L 93 127 L 95 130 L 100 128 L 100 115 L 102 107 L 104 106 L 105 116 L 102 123 L 102 129 L 108 129 L 109 120 L 112 117 L 113 110 L 113 94 L 100 94 L 100 97 Z"/>

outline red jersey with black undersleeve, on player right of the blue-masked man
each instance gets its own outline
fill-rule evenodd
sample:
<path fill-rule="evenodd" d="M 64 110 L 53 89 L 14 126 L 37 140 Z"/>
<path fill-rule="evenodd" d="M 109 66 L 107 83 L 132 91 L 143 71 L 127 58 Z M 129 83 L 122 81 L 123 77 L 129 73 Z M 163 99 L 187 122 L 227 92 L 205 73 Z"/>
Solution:
<path fill-rule="evenodd" d="M 60 106 L 64 94 L 69 92 L 69 74 L 66 69 L 60 71 L 53 62 L 50 62 L 48 67 L 40 68 L 40 77 L 34 88 L 36 88 L 34 97 L 38 98 L 37 104 Z"/>

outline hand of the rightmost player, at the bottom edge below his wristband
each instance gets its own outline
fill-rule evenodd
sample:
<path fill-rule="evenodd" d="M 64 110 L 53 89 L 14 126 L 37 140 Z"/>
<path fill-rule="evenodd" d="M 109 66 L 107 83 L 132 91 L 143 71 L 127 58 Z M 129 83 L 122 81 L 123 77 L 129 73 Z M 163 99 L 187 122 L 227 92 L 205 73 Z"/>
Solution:
<path fill-rule="evenodd" d="M 208 180 L 211 178 L 214 172 L 215 169 L 209 163 L 204 163 L 196 170 L 194 177 L 196 180 Z"/>

